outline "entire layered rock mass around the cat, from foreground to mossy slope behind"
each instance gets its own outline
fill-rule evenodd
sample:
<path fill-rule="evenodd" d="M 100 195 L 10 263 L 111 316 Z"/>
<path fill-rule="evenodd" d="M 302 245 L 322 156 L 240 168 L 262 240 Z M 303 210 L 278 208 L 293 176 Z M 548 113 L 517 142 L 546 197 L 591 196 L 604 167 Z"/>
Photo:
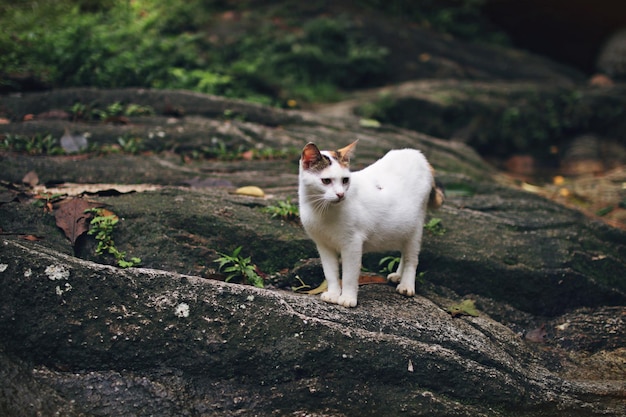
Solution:
<path fill-rule="evenodd" d="M 130 102 L 151 94 L 101 93 Z M 100 97 L 97 90 L 71 90 L 3 97 L 2 105 L 19 115 L 29 103 L 59 108 L 82 94 Z M 175 97 L 187 97 L 158 94 L 177 105 Z M 11 194 L 0 204 L 0 361 L 7 375 L 0 414 L 19 415 L 25 407 L 43 415 L 111 416 L 626 412 L 617 320 L 626 304 L 624 232 L 499 185 L 459 142 L 362 126 L 356 117 L 190 97 L 195 105 L 174 121 L 157 115 L 129 125 L 74 125 L 91 131 L 94 146 L 132 132 L 147 153 L 0 154 L 1 184 Z M 193 113 L 231 107 L 254 116 Z M 60 137 L 64 126 L 44 120 L 2 129 Z M 213 137 L 228 152 L 259 145 L 296 151 L 269 160 L 184 158 L 212 146 Z M 445 232 L 425 233 L 418 295 L 364 285 L 359 307 L 347 310 L 289 290 L 295 275 L 319 282 L 315 247 L 297 223 L 262 209 L 295 198 L 298 152 L 311 138 L 339 147 L 355 137 L 357 169 L 392 147 L 416 147 L 448 195 L 430 213 Z M 141 258 L 143 268 L 103 265 L 113 261 L 96 256 L 86 236 L 72 247 L 53 215 L 31 204 L 28 189 L 14 190 L 29 171 L 44 184 L 151 184 L 145 192 L 89 195 L 118 215 L 115 243 Z M 181 186 L 203 181 L 228 186 Z M 262 188 L 266 197 L 229 194 L 244 185 Z M 21 238 L 29 235 L 42 239 Z M 208 279 L 217 275 L 218 252 L 238 246 L 268 275 L 268 289 Z M 377 270 L 385 255 L 366 257 L 364 266 Z M 445 311 L 463 299 L 475 300 L 478 317 Z M 545 343 L 526 342 L 522 335 L 542 323 Z M 580 331 L 586 336 L 575 343 Z M 601 375 L 585 377 L 600 368 Z"/>

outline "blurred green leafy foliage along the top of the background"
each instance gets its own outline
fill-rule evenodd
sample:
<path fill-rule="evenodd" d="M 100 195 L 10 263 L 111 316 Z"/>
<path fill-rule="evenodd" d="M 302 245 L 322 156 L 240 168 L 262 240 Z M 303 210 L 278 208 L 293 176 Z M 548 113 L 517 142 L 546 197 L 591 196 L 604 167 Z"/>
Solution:
<path fill-rule="evenodd" d="M 483 2 L 355 5 L 481 39 L 489 33 L 478 18 Z M 348 14 L 329 15 L 324 7 L 323 1 L 7 2 L 0 4 L 0 88 L 19 89 L 12 80 L 28 76 L 51 87 L 183 88 L 285 105 L 384 83 L 388 50 Z M 219 33 L 233 12 L 241 22 Z"/>

